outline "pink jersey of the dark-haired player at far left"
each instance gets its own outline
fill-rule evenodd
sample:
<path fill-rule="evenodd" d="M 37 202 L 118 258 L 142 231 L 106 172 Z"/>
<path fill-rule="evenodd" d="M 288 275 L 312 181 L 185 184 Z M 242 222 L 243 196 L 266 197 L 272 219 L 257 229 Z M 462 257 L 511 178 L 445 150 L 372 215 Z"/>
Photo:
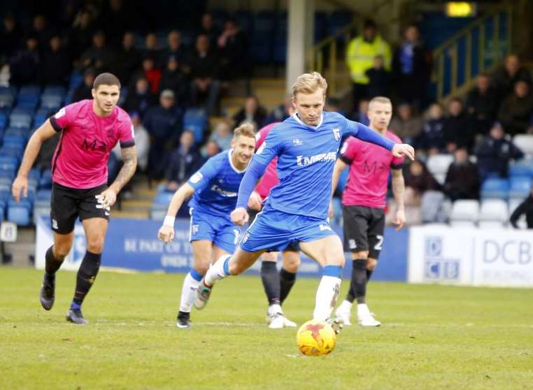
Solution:
<path fill-rule="evenodd" d="M 50 117 L 55 131 L 62 131 L 52 158 L 52 180 L 65 187 L 94 188 L 107 182 L 107 162 L 113 147 L 135 144 L 133 125 L 122 108 L 99 117 L 92 100 L 78 101 Z"/>

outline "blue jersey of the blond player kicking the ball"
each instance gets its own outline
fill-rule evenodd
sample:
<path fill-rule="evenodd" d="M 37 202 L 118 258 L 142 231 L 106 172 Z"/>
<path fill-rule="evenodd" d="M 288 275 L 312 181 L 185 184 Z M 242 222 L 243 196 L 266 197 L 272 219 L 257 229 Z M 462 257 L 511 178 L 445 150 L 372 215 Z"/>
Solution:
<path fill-rule="evenodd" d="M 296 113 L 278 124 L 253 157 L 266 167 L 278 156 L 280 182 L 271 189 L 267 204 L 290 214 L 325 219 L 341 140 L 357 136 L 362 126 L 330 112 L 322 113 L 316 127 L 301 122 Z M 393 145 L 388 143 L 390 149 Z"/>

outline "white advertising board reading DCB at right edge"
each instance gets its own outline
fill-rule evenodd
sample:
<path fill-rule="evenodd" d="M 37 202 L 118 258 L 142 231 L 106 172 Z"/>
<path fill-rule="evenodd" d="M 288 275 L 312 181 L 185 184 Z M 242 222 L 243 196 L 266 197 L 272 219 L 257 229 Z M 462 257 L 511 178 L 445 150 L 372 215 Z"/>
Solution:
<path fill-rule="evenodd" d="M 417 226 L 408 282 L 533 287 L 532 231 Z"/>

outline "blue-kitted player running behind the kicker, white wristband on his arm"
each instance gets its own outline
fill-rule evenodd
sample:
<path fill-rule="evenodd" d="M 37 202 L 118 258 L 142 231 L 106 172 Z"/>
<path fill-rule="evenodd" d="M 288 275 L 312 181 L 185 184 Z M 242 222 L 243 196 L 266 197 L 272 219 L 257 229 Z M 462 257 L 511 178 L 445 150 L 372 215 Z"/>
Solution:
<path fill-rule="evenodd" d="M 163 226 L 157 237 L 165 243 L 174 238 L 174 220 L 185 199 L 192 196 L 190 207 L 190 242 L 194 264 L 181 289 L 180 310 L 176 326 L 190 328 L 190 312 L 196 290 L 213 259 L 235 252 L 239 229 L 229 213 L 235 208 L 237 192 L 255 150 L 255 133 L 251 124 L 234 131 L 232 149 L 220 152 L 172 197 Z"/>

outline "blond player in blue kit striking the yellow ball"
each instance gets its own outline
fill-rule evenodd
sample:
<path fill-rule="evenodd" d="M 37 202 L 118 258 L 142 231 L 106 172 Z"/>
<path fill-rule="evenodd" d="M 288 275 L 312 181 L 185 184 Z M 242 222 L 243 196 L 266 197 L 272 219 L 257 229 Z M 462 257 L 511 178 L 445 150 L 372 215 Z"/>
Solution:
<path fill-rule="evenodd" d="M 262 212 L 243 235 L 236 252 L 220 257 L 209 268 L 197 290 L 196 308 L 204 308 L 215 282 L 243 273 L 266 250 L 285 250 L 292 243 L 324 266 L 313 319 L 329 319 L 339 296 L 344 264 L 341 239 L 327 220 L 341 138 L 357 136 L 392 151 L 395 157 L 406 154 L 412 159 L 414 150 L 339 113 L 323 112 L 326 89 L 326 80 L 317 72 L 299 75 L 294 82 L 292 103 L 296 113 L 273 129 L 255 154 L 239 187 L 232 220 L 239 225 L 248 221 L 248 198 L 257 178 L 276 156 L 280 183 L 271 189 Z M 336 319 L 332 322 L 339 325 Z"/>

